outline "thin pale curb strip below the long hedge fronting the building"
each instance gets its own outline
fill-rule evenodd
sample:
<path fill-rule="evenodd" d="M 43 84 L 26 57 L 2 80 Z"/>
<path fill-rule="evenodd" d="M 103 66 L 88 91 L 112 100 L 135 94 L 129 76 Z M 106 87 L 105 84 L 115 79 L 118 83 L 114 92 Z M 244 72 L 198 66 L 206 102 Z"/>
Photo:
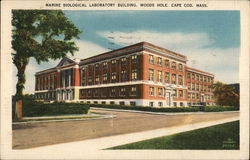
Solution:
<path fill-rule="evenodd" d="M 98 108 L 90 107 L 96 110 L 108 110 L 117 112 L 134 112 L 134 113 L 144 113 L 144 114 L 155 114 L 155 115 L 188 115 L 188 114 L 212 114 L 212 113 L 240 113 L 240 111 L 223 111 L 223 112 L 148 112 L 148 111 L 137 111 L 137 110 L 125 110 L 125 109 L 113 109 L 113 108 Z"/>

